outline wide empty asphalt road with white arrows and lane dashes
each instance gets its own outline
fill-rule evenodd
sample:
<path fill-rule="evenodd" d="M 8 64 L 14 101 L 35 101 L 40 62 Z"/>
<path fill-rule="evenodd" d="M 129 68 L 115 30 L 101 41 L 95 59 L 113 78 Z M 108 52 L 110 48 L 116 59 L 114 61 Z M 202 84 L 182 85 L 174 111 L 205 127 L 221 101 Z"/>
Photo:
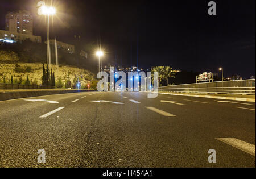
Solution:
<path fill-rule="evenodd" d="M 218 101 L 225 100 L 135 92 L 2 101 L 0 166 L 255 167 L 255 103 Z M 241 148 L 216 138 L 239 139 Z"/>

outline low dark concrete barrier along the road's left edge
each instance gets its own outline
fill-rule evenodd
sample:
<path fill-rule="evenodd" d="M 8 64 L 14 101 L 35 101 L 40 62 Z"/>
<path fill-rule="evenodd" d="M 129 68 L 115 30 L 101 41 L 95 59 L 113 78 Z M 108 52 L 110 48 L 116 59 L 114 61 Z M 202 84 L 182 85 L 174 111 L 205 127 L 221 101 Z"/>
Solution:
<path fill-rule="evenodd" d="M 15 91 L 0 93 L 0 101 L 18 99 L 18 98 L 28 98 L 28 97 L 38 97 L 41 95 L 51 95 L 51 94 L 65 94 L 65 93 L 82 93 L 82 92 L 93 92 L 97 90 L 44 90 L 44 91 Z"/>

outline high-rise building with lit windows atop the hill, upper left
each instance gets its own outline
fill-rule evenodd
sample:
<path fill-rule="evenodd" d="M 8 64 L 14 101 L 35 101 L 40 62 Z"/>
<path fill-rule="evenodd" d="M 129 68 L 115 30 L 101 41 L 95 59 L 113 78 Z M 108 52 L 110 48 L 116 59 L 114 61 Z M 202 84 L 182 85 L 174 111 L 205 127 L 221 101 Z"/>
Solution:
<path fill-rule="evenodd" d="M 5 20 L 6 31 L 33 35 L 33 18 L 29 11 L 19 10 L 18 12 L 8 12 L 5 15 Z"/>

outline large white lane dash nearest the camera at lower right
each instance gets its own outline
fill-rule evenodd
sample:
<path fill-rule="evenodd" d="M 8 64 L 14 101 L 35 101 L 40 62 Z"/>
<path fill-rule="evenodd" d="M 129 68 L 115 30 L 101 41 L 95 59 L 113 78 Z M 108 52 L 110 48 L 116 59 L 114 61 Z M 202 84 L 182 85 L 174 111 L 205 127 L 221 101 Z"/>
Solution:
<path fill-rule="evenodd" d="M 249 144 L 245 141 L 236 139 L 236 138 L 216 138 L 226 144 L 229 144 L 233 147 L 240 149 L 243 152 L 250 153 L 250 155 L 255 156 L 255 145 Z"/>

